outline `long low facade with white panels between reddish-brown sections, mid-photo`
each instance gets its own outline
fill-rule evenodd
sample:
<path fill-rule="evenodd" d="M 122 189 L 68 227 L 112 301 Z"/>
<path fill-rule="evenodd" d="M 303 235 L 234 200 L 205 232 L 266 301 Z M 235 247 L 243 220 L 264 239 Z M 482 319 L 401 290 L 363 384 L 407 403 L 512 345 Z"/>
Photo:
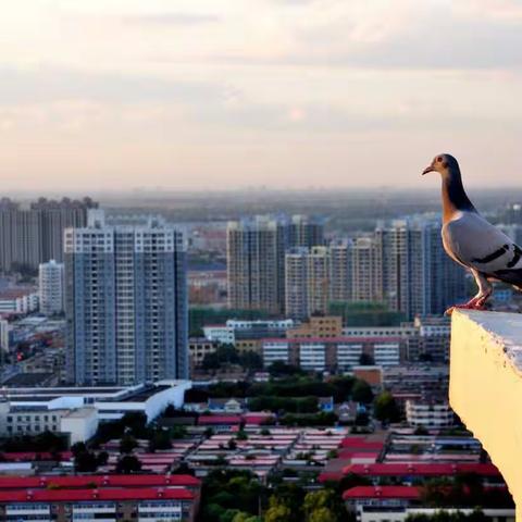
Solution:
<path fill-rule="evenodd" d="M 281 361 L 307 371 L 351 372 L 362 355 L 370 356 L 376 365 L 395 366 L 403 360 L 405 345 L 398 337 L 264 339 L 262 343 L 265 368 Z"/>

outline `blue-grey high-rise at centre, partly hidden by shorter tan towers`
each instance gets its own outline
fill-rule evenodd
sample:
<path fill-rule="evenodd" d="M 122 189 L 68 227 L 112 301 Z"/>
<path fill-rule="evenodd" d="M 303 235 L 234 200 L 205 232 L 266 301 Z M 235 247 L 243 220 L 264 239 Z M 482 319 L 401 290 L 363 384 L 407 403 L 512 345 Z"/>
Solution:
<path fill-rule="evenodd" d="M 316 243 L 319 241 L 319 243 Z M 301 215 L 258 215 L 227 227 L 228 307 L 282 313 L 285 309 L 285 252 L 322 245 L 322 224 Z"/>

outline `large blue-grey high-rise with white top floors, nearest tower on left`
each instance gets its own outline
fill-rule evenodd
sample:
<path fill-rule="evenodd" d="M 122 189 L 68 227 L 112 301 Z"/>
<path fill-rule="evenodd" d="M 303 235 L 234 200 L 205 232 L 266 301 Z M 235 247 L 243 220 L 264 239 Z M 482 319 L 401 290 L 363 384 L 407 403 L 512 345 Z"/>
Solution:
<path fill-rule="evenodd" d="M 188 377 L 186 249 L 159 219 L 65 231 L 67 370 L 77 385 Z"/>

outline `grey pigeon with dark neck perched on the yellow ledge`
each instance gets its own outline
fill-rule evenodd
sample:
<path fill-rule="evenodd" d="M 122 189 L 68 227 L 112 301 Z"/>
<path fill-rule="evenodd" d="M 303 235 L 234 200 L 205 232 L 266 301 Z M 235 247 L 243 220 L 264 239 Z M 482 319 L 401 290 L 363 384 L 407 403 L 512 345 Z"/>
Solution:
<path fill-rule="evenodd" d="M 486 221 L 468 198 L 460 167 L 450 154 L 439 154 L 423 175 L 438 172 L 443 181 L 443 245 L 446 253 L 473 274 L 477 294 L 453 309 L 483 310 L 492 297 L 494 281 L 522 290 L 522 248 Z"/>

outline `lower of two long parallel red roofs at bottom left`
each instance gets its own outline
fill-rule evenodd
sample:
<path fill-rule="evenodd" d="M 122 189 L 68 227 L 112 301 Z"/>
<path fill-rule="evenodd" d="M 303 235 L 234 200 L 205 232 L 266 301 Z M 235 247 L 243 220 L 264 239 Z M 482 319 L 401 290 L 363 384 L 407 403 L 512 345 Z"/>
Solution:
<path fill-rule="evenodd" d="M 71 502 L 87 500 L 192 500 L 185 488 L 119 488 L 119 489 L 15 489 L 0 492 L 0 502 Z"/>

